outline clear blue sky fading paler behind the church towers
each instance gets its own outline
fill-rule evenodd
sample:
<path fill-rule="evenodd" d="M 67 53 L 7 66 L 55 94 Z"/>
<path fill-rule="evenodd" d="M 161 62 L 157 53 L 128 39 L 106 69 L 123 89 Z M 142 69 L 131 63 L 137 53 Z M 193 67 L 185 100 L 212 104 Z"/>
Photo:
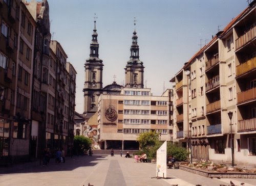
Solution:
<path fill-rule="evenodd" d="M 83 113 L 84 63 L 94 29 L 103 60 L 103 87 L 123 85 L 136 29 L 144 88 L 161 95 L 184 63 L 247 6 L 247 0 L 48 0 L 52 40 L 77 72 L 76 112 Z M 136 18 L 136 28 L 134 26 Z"/>

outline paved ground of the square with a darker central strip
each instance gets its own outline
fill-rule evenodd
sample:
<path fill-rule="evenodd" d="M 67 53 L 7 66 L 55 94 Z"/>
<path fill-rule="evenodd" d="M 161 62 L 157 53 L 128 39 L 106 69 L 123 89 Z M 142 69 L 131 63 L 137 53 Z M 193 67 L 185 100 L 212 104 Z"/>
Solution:
<path fill-rule="evenodd" d="M 48 166 L 33 162 L 13 167 L 0 168 L 0 185 L 74 185 L 94 186 L 111 185 L 156 185 L 167 186 L 178 184 L 179 186 L 229 185 L 230 180 L 236 185 L 255 186 L 255 179 L 228 179 L 207 178 L 179 169 L 167 169 L 168 179 L 156 179 L 156 164 L 134 163 L 132 158 L 118 155 L 93 155 L 66 157 L 66 163 L 55 164 L 50 161 Z"/>

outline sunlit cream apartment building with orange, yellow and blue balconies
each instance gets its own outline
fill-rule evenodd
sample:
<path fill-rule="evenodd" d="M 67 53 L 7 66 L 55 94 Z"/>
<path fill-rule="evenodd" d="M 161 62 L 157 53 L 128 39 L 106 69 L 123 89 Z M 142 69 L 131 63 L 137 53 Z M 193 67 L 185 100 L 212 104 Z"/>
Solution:
<path fill-rule="evenodd" d="M 255 166 L 255 5 L 251 2 L 170 79 L 174 138 L 194 158 Z"/>

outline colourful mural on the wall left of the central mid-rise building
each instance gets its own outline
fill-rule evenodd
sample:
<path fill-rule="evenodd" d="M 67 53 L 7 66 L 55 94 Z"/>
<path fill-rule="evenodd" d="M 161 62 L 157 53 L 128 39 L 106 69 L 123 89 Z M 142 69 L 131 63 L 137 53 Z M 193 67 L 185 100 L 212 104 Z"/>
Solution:
<path fill-rule="evenodd" d="M 100 149 L 97 139 L 97 125 L 83 125 L 82 134 L 92 141 L 92 149 Z"/>

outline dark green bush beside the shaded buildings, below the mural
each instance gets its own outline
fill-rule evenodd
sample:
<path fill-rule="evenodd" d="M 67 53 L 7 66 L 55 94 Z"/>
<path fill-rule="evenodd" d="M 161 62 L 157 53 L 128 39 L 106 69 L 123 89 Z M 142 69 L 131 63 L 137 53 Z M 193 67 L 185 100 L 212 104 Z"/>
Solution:
<path fill-rule="evenodd" d="M 84 152 L 91 148 L 92 141 L 90 138 L 84 136 L 74 137 L 74 153 L 76 155 L 82 155 Z"/>

